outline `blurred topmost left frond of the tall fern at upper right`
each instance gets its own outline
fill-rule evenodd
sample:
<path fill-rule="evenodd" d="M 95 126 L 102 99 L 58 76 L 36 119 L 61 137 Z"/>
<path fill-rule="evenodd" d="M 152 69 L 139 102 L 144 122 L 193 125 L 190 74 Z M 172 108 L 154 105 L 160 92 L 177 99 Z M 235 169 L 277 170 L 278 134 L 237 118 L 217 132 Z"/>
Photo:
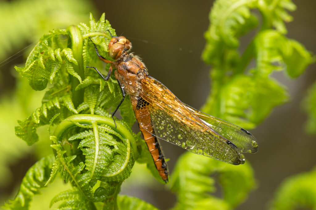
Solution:
<path fill-rule="evenodd" d="M 212 24 L 204 33 L 204 62 L 214 64 L 222 53 L 239 46 L 238 38 L 258 24 L 255 15 L 250 12 L 256 3 L 256 0 L 217 0 L 214 3 L 210 12 Z"/>

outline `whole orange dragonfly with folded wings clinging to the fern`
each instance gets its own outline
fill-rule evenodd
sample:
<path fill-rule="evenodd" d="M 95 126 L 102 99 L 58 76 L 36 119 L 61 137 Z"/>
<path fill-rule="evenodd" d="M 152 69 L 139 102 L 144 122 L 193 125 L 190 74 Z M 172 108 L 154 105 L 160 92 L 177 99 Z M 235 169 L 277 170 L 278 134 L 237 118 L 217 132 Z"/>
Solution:
<path fill-rule="evenodd" d="M 106 77 L 97 68 L 87 67 L 94 68 L 106 81 L 114 67 L 115 77 L 122 90 L 123 99 L 112 114 L 113 120 L 126 93 L 129 94 L 143 138 L 159 175 L 166 183 L 167 164 L 157 139 L 234 165 L 245 162 L 242 153 L 258 151 L 257 141 L 251 133 L 185 105 L 166 86 L 150 77 L 140 58 L 128 53 L 131 43 L 125 37 L 112 36 L 108 48 L 114 61 L 102 57 L 95 44 L 94 48 L 100 60 L 112 65 Z"/>

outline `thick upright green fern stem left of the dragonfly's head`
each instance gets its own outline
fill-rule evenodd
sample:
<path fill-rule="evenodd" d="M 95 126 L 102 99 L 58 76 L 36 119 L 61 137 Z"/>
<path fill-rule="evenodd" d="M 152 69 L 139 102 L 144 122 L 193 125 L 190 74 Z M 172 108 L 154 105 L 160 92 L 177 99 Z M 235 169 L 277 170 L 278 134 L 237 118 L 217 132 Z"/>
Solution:
<path fill-rule="evenodd" d="M 84 80 L 84 66 L 82 59 L 82 35 L 77 26 L 69 26 L 67 31 L 70 33 L 71 38 L 71 49 L 74 54 L 74 58 L 78 62 L 78 65 L 74 65 L 74 71 Z M 75 90 L 79 81 L 77 78 L 70 76 L 71 81 L 71 91 L 72 91 L 72 101 L 75 107 L 83 102 L 84 89 Z"/>

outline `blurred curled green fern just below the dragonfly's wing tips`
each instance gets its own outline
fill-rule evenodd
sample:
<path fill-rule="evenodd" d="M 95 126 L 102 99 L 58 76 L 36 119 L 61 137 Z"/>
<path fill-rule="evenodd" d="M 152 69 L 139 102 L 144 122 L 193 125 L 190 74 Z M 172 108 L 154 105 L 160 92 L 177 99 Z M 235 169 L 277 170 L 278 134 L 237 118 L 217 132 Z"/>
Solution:
<path fill-rule="evenodd" d="M 222 199 L 212 194 L 216 178 L 222 187 Z M 178 196 L 174 209 L 234 209 L 255 184 L 247 163 L 236 167 L 189 152 L 177 162 L 171 182 L 171 190 Z"/>

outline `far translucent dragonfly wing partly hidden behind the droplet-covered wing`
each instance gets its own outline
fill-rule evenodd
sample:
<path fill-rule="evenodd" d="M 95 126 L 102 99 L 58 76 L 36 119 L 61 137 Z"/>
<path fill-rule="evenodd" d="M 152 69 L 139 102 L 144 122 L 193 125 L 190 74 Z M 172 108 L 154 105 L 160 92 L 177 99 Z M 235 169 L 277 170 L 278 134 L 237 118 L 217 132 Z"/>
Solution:
<path fill-rule="evenodd" d="M 257 140 L 250 132 L 230 122 L 198 111 L 188 105 L 187 107 L 197 117 L 205 121 L 213 130 L 220 133 L 222 137 L 234 143 L 240 148 L 241 152 L 256 153 L 258 151 Z"/>

